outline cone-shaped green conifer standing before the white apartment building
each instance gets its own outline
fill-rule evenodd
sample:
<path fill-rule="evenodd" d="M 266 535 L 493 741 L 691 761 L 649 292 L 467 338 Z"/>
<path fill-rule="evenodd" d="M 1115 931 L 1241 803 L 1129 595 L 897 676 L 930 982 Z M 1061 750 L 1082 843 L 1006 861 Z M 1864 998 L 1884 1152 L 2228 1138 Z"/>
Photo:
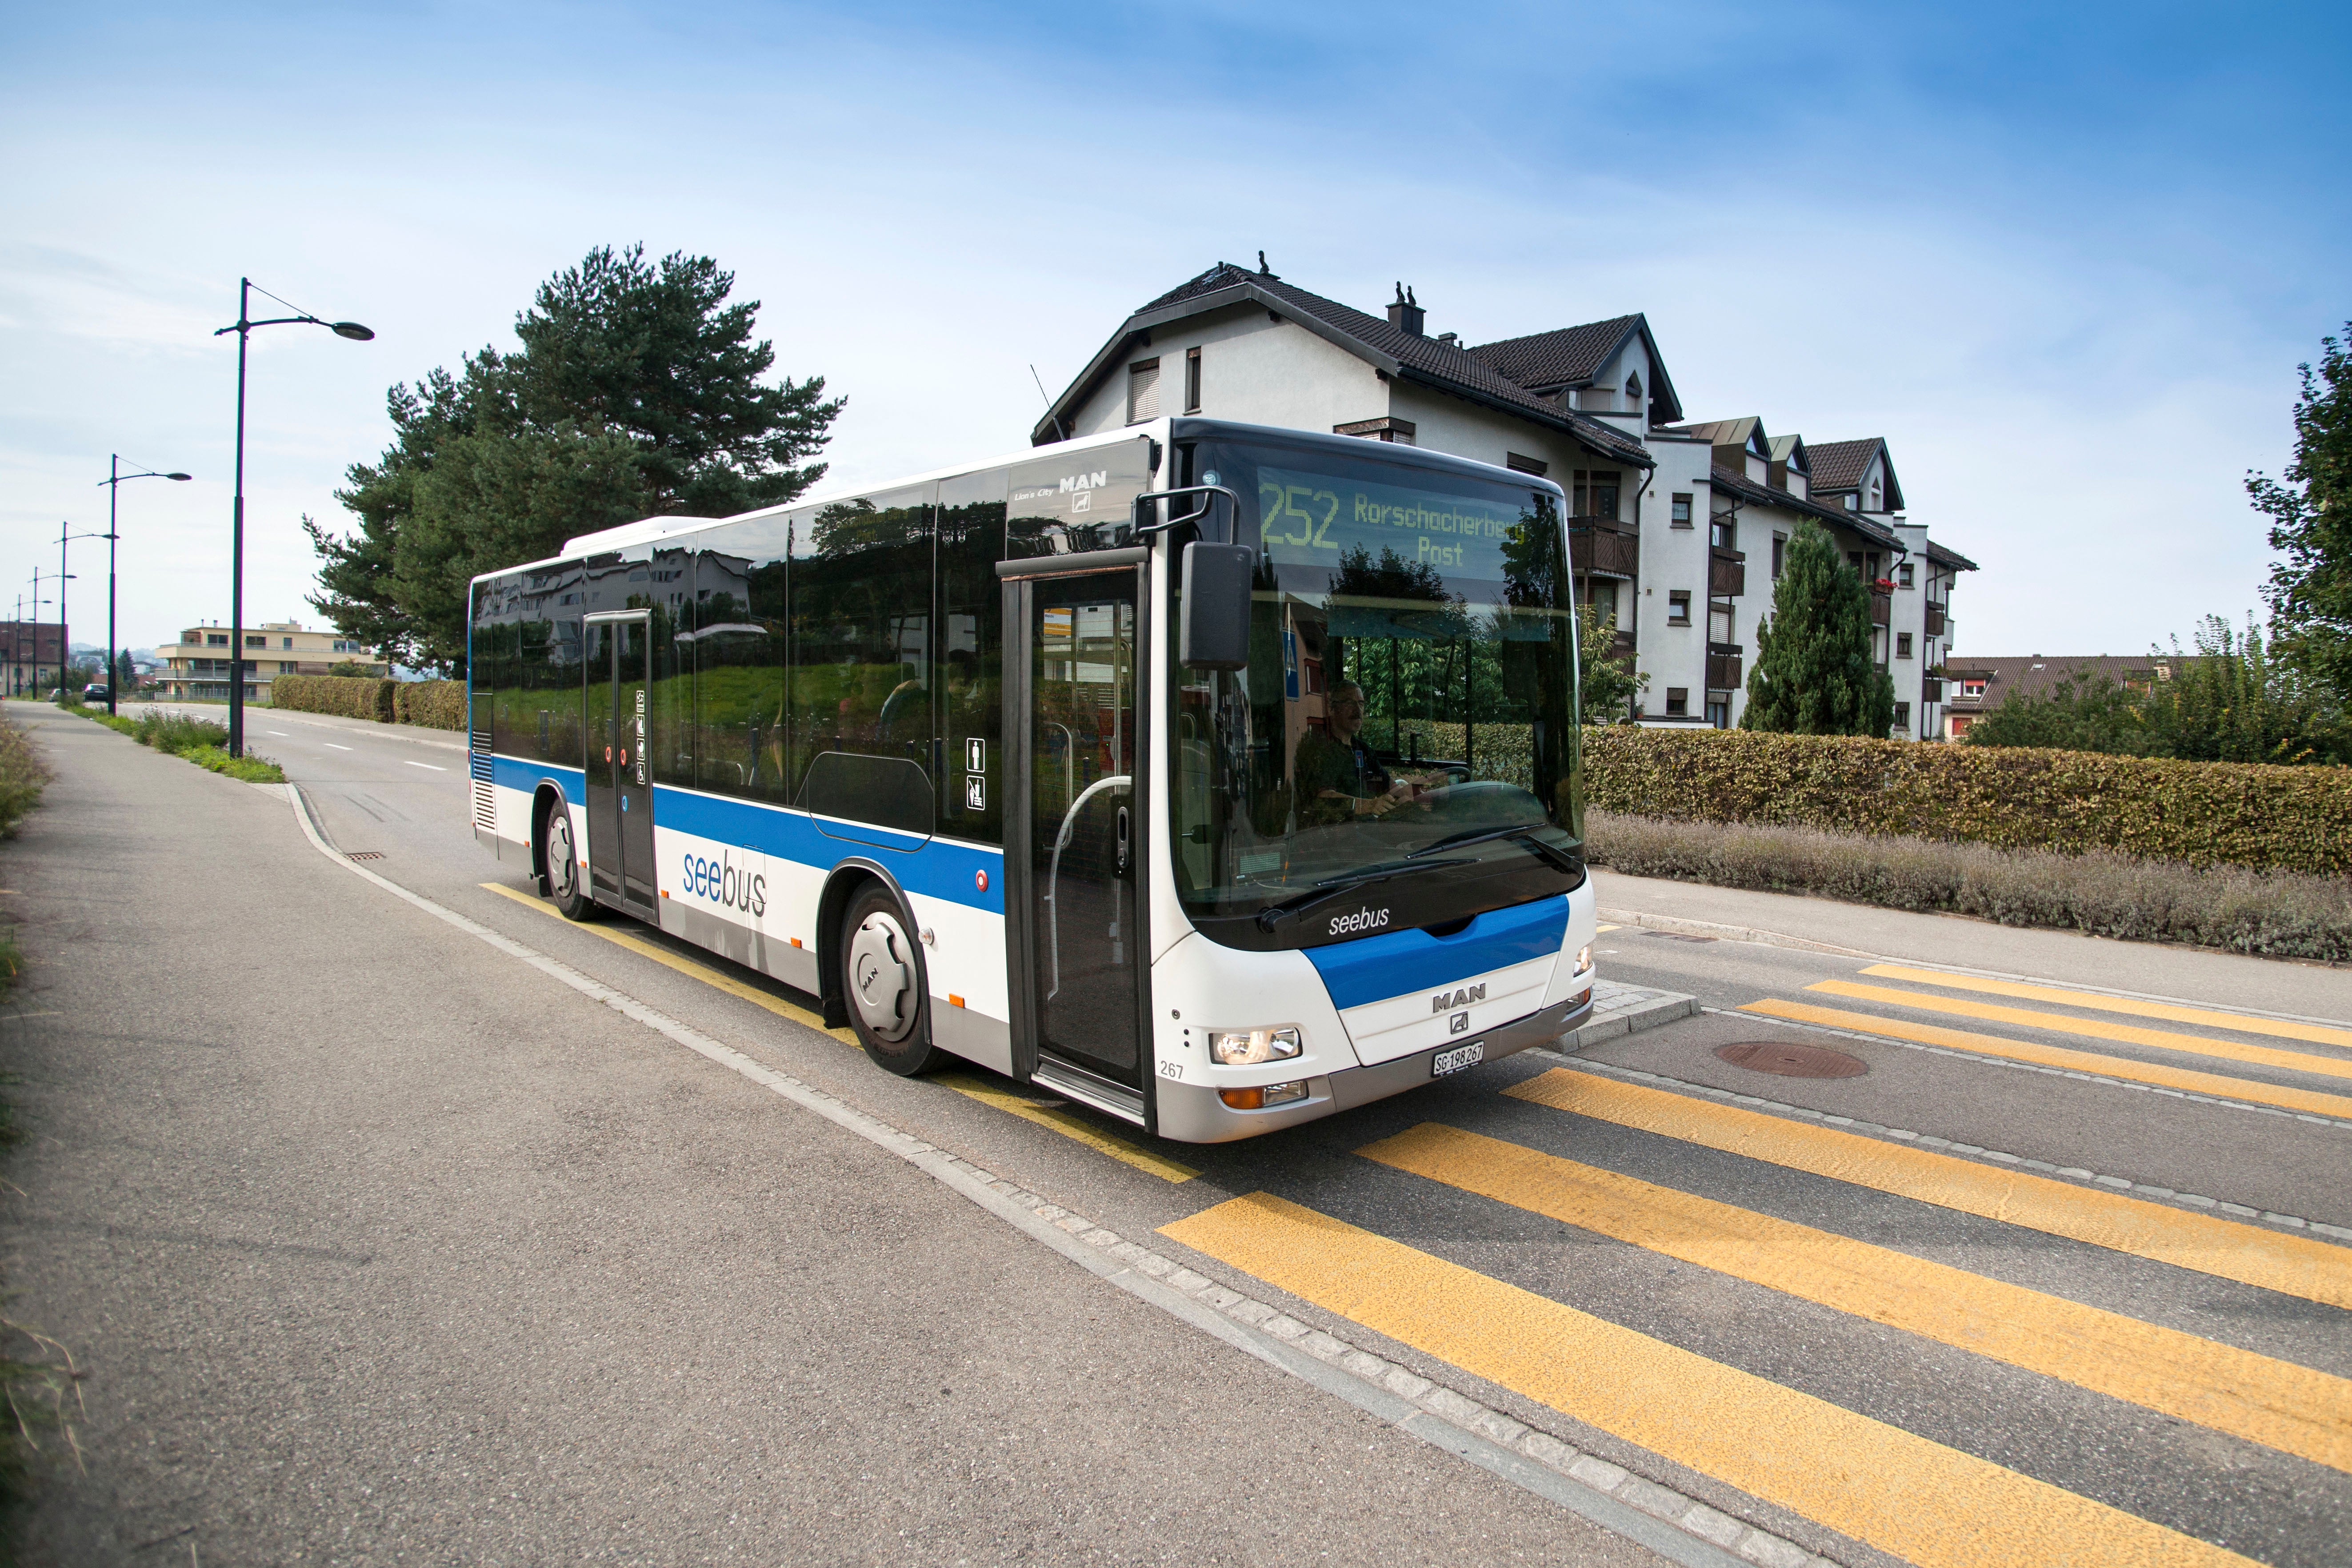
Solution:
<path fill-rule="evenodd" d="M 1893 705 L 1893 679 L 1870 658 L 1870 590 L 1828 529 L 1799 522 L 1757 628 L 1740 729 L 1884 736 Z"/>

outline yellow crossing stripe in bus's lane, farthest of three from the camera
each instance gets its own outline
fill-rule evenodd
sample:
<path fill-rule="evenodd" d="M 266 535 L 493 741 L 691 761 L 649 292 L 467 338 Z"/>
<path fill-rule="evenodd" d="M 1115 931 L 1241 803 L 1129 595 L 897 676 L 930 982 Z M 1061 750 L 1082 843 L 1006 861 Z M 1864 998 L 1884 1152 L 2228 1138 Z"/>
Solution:
<path fill-rule="evenodd" d="M 2178 1269 L 2352 1309 L 2352 1248 L 2220 1215 L 1552 1067 L 1503 1093 Z"/>

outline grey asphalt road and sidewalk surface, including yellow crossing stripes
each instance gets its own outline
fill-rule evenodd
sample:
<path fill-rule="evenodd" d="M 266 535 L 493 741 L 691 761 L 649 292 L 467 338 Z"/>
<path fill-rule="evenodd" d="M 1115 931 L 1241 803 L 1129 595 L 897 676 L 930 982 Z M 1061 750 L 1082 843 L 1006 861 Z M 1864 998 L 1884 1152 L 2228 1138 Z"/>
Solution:
<path fill-rule="evenodd" d="M 59 1561 L 183 1526 L 216 1561 L 1646 1556 L 372 889 L 285 802 L 9 717 L 59 766 L 0 851 L 42 959 L 7 1276 L 92 1363 Z M 459 736 L 249 738 L 400 886 L 1804 1552 L 2352 1537 L 2352 1246 L 2312 1229 L 2352 1227 L 2343 971 L 1604 879 L 1896 961 L 1628 924 L 1602 973 L 1708 1011 L 1136 1150 L 515 898 Z"/>

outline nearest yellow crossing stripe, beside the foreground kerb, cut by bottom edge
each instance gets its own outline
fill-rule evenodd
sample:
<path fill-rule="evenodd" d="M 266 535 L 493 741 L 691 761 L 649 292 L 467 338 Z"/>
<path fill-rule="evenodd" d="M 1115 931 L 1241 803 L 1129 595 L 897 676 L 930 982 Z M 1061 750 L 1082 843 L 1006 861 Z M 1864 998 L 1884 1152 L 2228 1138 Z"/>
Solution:
<path fill-rule="evenodd" d="M 1919 1568 L 2249 1561 L 1265 1192 L 1160 1234 Z"/>

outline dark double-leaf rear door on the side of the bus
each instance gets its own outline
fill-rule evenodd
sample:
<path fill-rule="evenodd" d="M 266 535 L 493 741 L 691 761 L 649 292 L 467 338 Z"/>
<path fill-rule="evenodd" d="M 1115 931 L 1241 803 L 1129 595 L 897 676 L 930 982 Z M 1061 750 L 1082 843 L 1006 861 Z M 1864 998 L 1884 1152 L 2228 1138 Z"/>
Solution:
<path fill-rule="evenodd" d="M 644 614 L 588 618 L 588 889 L 659 919 Z"/>

